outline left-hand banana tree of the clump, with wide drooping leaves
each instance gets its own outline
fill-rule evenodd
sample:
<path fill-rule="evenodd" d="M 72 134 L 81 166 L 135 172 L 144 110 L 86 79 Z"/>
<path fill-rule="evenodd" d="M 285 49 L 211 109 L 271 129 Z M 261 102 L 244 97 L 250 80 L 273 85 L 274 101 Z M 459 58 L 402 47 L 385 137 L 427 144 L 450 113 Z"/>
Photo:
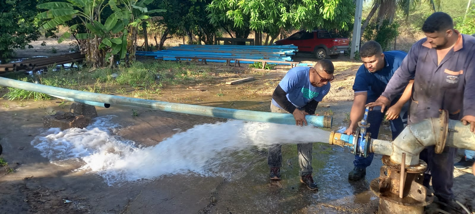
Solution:
<path fill-rule="evenodd" d="M 80 19 L 80 24 L 69 26 L 69 32 L 63 34 L 58 42 L 62 42 L 75 32 L 79 25 L 84 25 L 86 33 L 76 34 L 76 39 L 84 39 L 81 52 L 85 53 L 86 60 L 92 62 L 93 68 L 104 67 L 107 61 L 113 64 L 115 54 L 125 57 L 127 29 L 116 14 L 109 16 L 104 24 L 101 22 L 101 12 L 107 6 L 105 0 L 66 0 L 67 2 L 48 2 L 39 4 L 38 9 L 47 11 L 37 15 L 38 19 L 45 20 L 44 29 L 52 29 L 58 25 L 66 25 L 67 21 Z M 105 4 L 104 4 L 105 3 Z M 66 25 L 67 26 L 67 25 Z M 117 38 L 113 34 L 120 33 Z"/>

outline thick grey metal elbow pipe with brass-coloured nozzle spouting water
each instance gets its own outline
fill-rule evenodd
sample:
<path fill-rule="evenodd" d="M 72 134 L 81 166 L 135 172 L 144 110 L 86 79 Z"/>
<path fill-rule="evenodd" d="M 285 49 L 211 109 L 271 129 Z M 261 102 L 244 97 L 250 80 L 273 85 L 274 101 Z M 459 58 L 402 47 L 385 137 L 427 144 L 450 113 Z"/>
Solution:
<path fill-rule="evenodd" d="M 475 134 L 470 126 L 461 121 L 448 119 L 445 111 L 438 118 L 428 118 L 406 126 L 394 141 L 371 139 L 368 152 L 391 156 L 391 161 L 401 163 L 402 153 L 406 153 L 406 165 L 418 165 L 419 153 L 427 146 L 436 146 L 442 152 L 445 146 L 475 150 Z M 330 145 L 346 146 L 356 154 L 363 154 L 356 136 L 332 132 Z M 364 149 L 363 149 L 364 150 Z"/>

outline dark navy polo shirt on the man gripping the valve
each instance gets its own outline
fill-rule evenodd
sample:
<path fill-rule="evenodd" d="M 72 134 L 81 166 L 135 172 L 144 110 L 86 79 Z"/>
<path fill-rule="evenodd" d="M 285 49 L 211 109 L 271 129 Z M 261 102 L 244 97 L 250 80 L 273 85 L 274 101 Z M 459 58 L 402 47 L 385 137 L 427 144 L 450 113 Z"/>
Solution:
<path fill-rule="evenodd" d="M 394 72 L 399 68 L 402 60 L 406 57 L 407 53 L 400 50 L 391 50 L 384 53 L 384 61 L 386 65 L 379 71 L 371 73 L 364 65 L 356 72 L 355 83 L 353 84 L 353 90 L 357 92 L 368 92 L 368 98 L 366 103 L 376 101 L 378 97 L 384 92 L 389 80 Z M 394 100 L 397 101 L 399 96 Z"/>

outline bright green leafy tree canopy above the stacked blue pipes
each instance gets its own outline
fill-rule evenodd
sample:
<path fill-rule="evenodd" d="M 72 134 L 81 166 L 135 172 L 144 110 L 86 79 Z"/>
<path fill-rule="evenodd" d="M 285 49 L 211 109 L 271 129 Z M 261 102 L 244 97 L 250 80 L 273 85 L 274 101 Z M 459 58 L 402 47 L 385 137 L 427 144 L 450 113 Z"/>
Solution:
<path fill-rule="evenodd" d="M 352 0 L 213 0 L 207 7 L 210 22 L 236 38 L 250 30 L 276 38 L 281 29 L 348 29 L 354 9 Z"/>

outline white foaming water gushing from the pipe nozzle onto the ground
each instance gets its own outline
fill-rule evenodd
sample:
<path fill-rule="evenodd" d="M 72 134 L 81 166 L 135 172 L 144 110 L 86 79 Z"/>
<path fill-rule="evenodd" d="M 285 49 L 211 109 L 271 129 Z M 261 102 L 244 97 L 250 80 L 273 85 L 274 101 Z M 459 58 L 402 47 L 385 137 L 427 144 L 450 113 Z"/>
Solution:
<path fill-rule="evenodd" d="M 156 146 L 142 147 L 114 135 L 120 126 L 111 118 L 97 117 L 83 129 L 50 128 L 31 144 L 51 163 L 82 162 L 78 170 L 97 173 L 112 185 L 190 171 L 213 176 L 227 155 L 249 146 L 327 142 L 329 138 L 329 132 L 310 126 L 230 120 L 197 125 Z"/>

